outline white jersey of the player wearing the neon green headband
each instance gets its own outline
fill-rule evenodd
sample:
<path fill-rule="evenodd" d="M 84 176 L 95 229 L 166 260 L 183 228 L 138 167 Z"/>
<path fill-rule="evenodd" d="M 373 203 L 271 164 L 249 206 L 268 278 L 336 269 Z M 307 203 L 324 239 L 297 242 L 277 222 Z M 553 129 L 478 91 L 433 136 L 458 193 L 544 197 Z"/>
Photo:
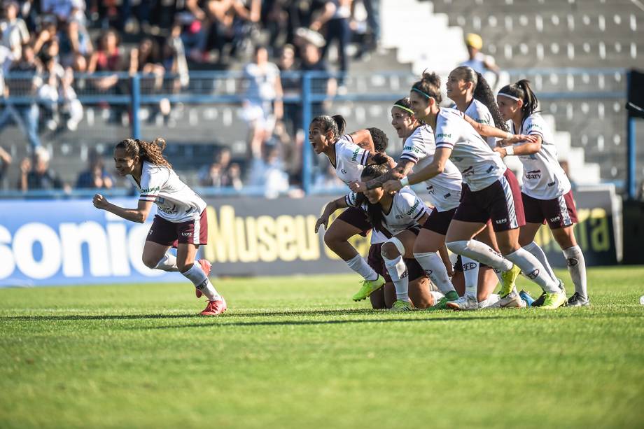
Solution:
<path fill-rule="evenodd" d="M 414 170 L 419 171 L 431 164 L 435 152 L 436 142 L 432 128 L 429 125 L 421 125 L 405 139 L 400 160 L 414 162 L 416 164 Z M 425 183 L 429 191 L 429 199 L 437 211 L 455 209 L 458 204 L 461 204 L 463 178 L 453 162 L 447 160 L 444 171 Z"/>

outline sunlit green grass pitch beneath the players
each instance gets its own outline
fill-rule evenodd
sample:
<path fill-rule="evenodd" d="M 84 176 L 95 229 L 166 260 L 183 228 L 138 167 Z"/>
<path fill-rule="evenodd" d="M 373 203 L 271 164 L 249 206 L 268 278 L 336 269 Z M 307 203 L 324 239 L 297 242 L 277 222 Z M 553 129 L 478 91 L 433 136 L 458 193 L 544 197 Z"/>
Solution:
<path fill-rule="evenodd" d="M 591 269 L 591 308 L 404 315 L 351 302 L 355 276 L 217 281 L 219 318 L 186 283 L 0 290 L 0 428 L 641 428 L 643 279 Z"/>

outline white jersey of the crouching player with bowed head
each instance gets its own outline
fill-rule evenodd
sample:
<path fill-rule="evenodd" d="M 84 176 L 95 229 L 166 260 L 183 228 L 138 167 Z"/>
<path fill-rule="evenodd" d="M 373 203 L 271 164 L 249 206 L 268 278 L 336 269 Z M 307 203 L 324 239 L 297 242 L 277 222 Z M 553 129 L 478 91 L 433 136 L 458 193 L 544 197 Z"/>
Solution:
<path fill-rule="evenodd" d="M 349 192 L 344 200 L 349 206 L 356 207 L 360 205 L 357 202 L 357 197 L 356 192 Z M 361 207 L 366 211 L 367 203 L 364 202 Z M 389 213 L 382 212 L 382 226 L 389 234 L 395 235 L 415 225 L 421 226 L 418 221 L 425 213 L 428 213 L 428 209 L 423 200 L 416 195 L 412 188 L 405 186 L 393 195 Z"/>

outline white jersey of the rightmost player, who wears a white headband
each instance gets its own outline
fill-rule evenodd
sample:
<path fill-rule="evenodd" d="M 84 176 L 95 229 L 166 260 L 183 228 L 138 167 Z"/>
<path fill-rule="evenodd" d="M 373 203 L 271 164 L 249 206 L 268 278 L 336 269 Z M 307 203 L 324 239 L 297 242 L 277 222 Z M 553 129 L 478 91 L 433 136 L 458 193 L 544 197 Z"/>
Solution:
<path fill-rule="evenodd" d="M 514 132 L 514 124 L 512 124 Z M 556 159 L 554 136 L 545 120 L 539 114 L 524 119 L 519 132 L 514 134 L 535 134 L 541 137 L 541 150 L 532 155 L 519 155 L 524 167 L 521 191 L 537 199 L 553 199 L 570 191 L 570 181 Z M 517 146 L 521 146 L 519 143 Z"/>

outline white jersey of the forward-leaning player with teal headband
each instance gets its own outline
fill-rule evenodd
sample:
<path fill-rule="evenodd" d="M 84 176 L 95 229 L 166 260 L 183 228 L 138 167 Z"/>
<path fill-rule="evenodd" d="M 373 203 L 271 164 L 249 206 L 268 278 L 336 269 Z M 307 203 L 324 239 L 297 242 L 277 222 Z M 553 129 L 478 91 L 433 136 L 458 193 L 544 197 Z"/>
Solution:
<path fill-rule="evenodd" d="M 436 118 L 436 147 L 450 148 L 450 160 L 472 191 L 487 188 L 505 173 L 505 164 L 454 108 L 441 108 Z"/>

